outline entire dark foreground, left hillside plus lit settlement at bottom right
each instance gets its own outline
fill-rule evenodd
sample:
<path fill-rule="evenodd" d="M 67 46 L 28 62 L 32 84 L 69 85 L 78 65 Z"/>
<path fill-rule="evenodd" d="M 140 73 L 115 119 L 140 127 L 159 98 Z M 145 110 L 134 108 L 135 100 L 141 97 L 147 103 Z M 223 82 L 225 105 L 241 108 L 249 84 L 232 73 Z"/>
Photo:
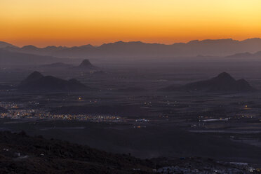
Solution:
<path fill-rule="evenodd" d="M 0 173 L 258 173 L 246 163 L 213 159 L 141 160 L 60 140 L 0 132 Z"/>

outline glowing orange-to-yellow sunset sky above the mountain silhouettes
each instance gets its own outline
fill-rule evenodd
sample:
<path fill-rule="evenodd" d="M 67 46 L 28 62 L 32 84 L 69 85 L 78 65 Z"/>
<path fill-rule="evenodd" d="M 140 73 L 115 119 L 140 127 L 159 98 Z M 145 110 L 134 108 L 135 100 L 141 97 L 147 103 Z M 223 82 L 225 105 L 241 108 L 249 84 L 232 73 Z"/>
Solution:
<path fill-rule="evenodd" d="M 18 46 L 252 37 L 260 0 L 0 0 L 0 41 Z"/>

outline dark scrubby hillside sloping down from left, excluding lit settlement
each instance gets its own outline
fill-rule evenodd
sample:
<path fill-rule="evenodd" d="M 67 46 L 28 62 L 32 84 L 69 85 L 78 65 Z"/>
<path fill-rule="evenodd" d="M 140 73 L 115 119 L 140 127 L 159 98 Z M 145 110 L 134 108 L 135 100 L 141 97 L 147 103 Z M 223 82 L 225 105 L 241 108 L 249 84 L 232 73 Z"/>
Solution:
<path fill-rule="evenodd" d="M 152 166 L 129 155 L 0 132 L 0 173 L 152 173 Z"/>

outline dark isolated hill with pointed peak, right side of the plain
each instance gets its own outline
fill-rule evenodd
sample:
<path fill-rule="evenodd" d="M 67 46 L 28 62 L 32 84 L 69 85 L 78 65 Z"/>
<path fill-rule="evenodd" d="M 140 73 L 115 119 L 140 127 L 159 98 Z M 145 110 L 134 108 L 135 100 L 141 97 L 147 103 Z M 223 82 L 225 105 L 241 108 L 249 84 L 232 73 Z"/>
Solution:
<path fill-rule="evenodd" d="M 245 79 L 235 80 L 226 72 L 206 81 L 187 83 L 184 86 L 168 86 L 161 91 L 208 91 L 208 92 L 247 92 L 253 87 Z"/>

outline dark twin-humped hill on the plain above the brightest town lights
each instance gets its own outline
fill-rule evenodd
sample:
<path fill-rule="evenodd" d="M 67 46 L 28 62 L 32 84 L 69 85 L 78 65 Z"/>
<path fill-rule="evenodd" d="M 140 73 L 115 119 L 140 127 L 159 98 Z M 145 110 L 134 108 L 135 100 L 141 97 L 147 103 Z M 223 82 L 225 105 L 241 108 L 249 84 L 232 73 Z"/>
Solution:
<path fill-rule="evenodd" d="M 85 86 L 76 79 L 69 81 L 54 76 L 43 76 L 39 72 L 33 72 L 18 87 L 20 91 L 88 91 L 91 88 Z"/>

